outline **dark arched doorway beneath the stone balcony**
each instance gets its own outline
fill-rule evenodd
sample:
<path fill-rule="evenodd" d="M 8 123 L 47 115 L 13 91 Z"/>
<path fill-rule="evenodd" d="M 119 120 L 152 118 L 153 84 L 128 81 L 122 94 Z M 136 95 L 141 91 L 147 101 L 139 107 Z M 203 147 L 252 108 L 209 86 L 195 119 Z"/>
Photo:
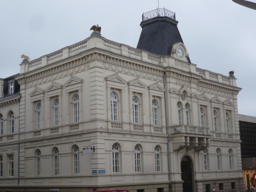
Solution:
<path fill-rule="evenodd" d="M 181 161 L 181 179 L 183 192 L 193 192 L 193 163 L 188 156 L 184 156 Z"/>

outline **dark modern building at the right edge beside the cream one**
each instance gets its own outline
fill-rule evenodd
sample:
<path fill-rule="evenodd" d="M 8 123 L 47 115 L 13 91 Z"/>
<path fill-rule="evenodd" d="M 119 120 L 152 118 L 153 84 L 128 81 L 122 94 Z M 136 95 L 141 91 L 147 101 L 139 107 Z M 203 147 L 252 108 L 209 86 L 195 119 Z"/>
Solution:
<path fill-rule="evenodd" d="M 250 185 L 256 182 L 256 116 L 240 115 L 241 157 L 244 184 L 247 187 L 246 173 L 250 176 Z"/>

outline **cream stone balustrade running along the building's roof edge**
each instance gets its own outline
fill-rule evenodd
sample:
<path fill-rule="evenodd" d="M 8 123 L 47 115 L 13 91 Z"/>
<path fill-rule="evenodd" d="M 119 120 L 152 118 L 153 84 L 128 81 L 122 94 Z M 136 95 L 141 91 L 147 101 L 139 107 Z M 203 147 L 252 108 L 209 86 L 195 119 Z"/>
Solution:
<path fill-rule="evenodd" d="M 185 63 L 186 64 L 185 65 L 184 62 L 182 61 L 178 62 L 179 65 L 177 64 L 177 62 L 176 64 L 172 64 L 172 63 L 175 63 L 175 61 L 173 61 L 174 59 L 171 57 L 170 58 L 161 57 L 159 55 L 152 54 L 147 51 L 129 47 L 128 45 L 118 44 L 116 42 L 106 40 L 105 38 L 100 36 L 87 38 L 86 40 L 78 42 L 77 44 L 70 45 L 56 52 L 52 52 L 51 54 L 47 54 L 36 60 L 29 61 L 28 63 L 22 63 L 20 64 L 20 74 L 24 74 L 26 72 L 30 72 L 37 68 L 56 63 L 56 61 L 65 60 L 70 56 L 75 56 L 77 54 L 80 54 L 83 51 L 86 51 L 88 49 L 92 49 L 95 47 L 99 49 L 106 49 L 111 52 L 116 52 L 123 56 L 132 57 L 132 58 L 135 57 L 138 60 L 145 61 L 148 63 L 153 63 L 155 65 L 160 65 L 161 63 L 165 63 L 165 64 L 162 64 L 161 66 L 164 65 L 164 66 L 182 68 L 182 70 L 197 73 L 200 76 L 203 76 L 205 79 L 209 79 L 209 80 L 216 81 L 219 83 L 224 83 L 224 84 L 236 85 L 236 81 L 234 80 L 234 78 L 222 76 L 221 74 L 209 72 L 208 70 L 204 70 L 201 68 L 196 68 L 196 65 L 194 64 Z"/>

